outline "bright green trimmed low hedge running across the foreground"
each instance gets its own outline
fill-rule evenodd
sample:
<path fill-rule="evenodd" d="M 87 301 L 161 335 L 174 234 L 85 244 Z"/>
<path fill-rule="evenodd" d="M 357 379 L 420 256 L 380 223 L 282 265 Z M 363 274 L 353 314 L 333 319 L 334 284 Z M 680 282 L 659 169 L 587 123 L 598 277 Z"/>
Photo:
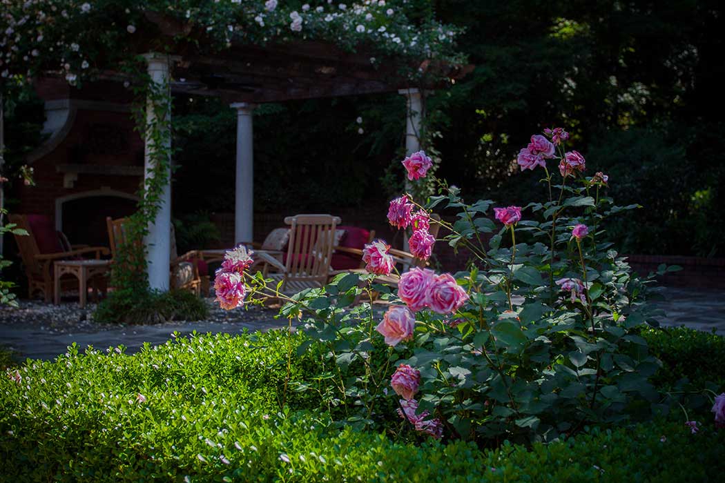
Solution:
<path fill-rule="evenodd" d="M 289 350 L 292 379 L 320 370 L 314 347 L 296 355 L 300 340 L 197 335 L 136 356 L 70 348 L 54 362 L 28 361 L 20 385 L 0 381 L 0 481 L 666 483 L 719 481 L 725 471 L 725 433 L 705 413 L 692 415 L 703 423 L 697 434 L 677 414 L 484 451 L 341 429 L 314 409 L 314 393 L 284 390 Z M 279 412 L 281 398 L 306 409 Z"/>

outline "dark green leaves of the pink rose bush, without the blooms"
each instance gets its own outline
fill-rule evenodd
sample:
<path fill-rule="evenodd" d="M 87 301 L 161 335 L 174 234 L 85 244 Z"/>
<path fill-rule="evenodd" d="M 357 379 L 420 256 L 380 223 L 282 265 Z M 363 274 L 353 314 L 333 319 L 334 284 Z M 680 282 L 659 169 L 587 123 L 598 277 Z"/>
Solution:
<path fill-rule="evenodd" d="M 562 159 L 565 151 L 558 146 Z M 306 332 L 326 345 L 336 366 L 329 369 L 327 400 L 347 408 L 349 424 L 389 427 L 381 405 L 394 407 L 398 398 L 382 388 L 400 364 L 420 371 L 421 411 L 463 439 L 554 440 L 584 424 L 663 410 L 647 380 L 660 361 L 638 332 L 654 323 L 645 297 L 651 280 L 632 277 L 600 230 L 634 206 L 616 206 L 591 177 L 555 179 L 543 171 L 548 201 L 529 203 L 518 224 L 498 232 L 492 201 L 466 203 L 444 182 L 439 196 L 419 205 L 458 211 L 455 222 L 438 223 L 444 241 L 472 253 L 468 269 L 455 274 L 468 301 L 450 314 L 416 312 L 412 340 L 384 350 L 385 364 L 373 364 L 380 335 L 370 304 L 347 309 L 379 290 L 374 275 L 336 277 L 283 308 L 285 316 L 310 314 Z M 574 238 L 576 224 L 586 224 L 589 235 Z M 567 280 L 575 288 L 561 285 Z M 393 290 L 386 299 L 402 303 Z"/>

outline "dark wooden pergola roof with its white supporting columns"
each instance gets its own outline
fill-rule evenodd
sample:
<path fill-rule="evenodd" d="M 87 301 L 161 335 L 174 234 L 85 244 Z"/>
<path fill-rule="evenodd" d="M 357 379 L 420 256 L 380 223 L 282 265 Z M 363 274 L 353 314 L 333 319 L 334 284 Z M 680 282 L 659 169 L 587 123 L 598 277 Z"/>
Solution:
<path fill-rule="evenodd" d="M 265 46 L 233 44 L 223 51 L 204 51 L 203 46 L 208 43 L 203 32 L 151 12 L 146 14 L 146 19 L 154 28 L 150 28 L 133 49 L 145 52 L 147 70 L 153 82 L 157 85 L 168 83 L 172 93 L 218 96 L 237 111 L 235 243 L 252 240 L 253 235 L 254 106 L 295 99 L 399 92 L 407 98 L 405 146 L 407 152 L 412 153 L 420 148 L 419 133 L 424 115 L 421 90 L 441 88 L 447 78 L 460 78 L 472 70 L 472 66 L 431 62 L 430 59 L 421 62 L 410 58 L 397 61 L 386 58 L 378 62 L 365 46 L 352 53 L 320 41 Z M 188 41 L 180 42 L 179 38 Z M 161 54 L 160 51 L 170 53 Z M 407 68 L 408 72 L 430 74 L 423 77 L 435 78 L 436 83 L 410 85 L 407 76 L 402 75 L 401 67 Z M 107 75 L 118 78 L 114 72 Z M 168 114 L 165 119 L 170 125 Z M 152 122 L 153 116 L 154 109 L 149 105 L 146 121 Z M 149 154 L 153 149 L 152 140 L 146 138 L 146 177 L 152 176 L 154 161 Z M 170 179 L 170 173 L 167 179 Z M 157 290 L 169 288 L 170 195 L 170 183 L 167 183 L 160 209 L 144 240 L 149 284 Z"/>

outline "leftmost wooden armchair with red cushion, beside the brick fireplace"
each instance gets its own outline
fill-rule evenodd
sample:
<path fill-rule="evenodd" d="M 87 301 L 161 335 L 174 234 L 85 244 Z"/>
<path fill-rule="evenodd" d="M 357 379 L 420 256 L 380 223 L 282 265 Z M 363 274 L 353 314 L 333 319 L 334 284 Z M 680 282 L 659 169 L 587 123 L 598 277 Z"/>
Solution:
<path fill-rule="evenodd" d="M 51 217 L 38 214 L 11 214 L 9 222 L 17 225 L 18 228 L 28 232 L 29 236 L 15 235 L 17 248 L 20 250 L 20 258 L 25 266 L 25 276 L 28 277 L 28 297 L 32 298 L 35 293 L 40 293 L 43 300 L 50 303 L 54 299 L 53 262 L 57 260 L 101 258 L 101 255 L 109 253 L 108 248 L 101 246 L 85 246 L 67 250 L 63 244 L 65 235 L 62 237 L 55 229 Z M 72 285 L 65 281 L 61 290 L 77 287 L 77 282 Z"/>

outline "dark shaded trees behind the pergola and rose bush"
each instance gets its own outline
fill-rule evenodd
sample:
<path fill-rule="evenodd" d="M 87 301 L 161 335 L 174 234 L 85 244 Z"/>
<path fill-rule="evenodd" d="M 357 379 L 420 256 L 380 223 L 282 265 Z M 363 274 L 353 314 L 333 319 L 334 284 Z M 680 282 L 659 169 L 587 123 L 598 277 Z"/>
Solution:
<path fill-rule="evenodd" d="M 476 65 L 428 100 L 438 174 L 472 197 L 525 205 L 541 188 L 515 175 L 515 154 L 563 126 L 588 171 L 610 175 L 610 194 L 643 206 L 608 226 L 621 251 L 723 256 L 722 15 L 716 0 L 437 2 L 440 20 L 465 27 L 459 47 Z M 402 185 L 404 112 L 397 94 L 260 106 L 255 211 L 365 206 L 382 217 Z M 233 211 L 235 113 L 180 97 L 173 118 L 175 217 Z"/>

